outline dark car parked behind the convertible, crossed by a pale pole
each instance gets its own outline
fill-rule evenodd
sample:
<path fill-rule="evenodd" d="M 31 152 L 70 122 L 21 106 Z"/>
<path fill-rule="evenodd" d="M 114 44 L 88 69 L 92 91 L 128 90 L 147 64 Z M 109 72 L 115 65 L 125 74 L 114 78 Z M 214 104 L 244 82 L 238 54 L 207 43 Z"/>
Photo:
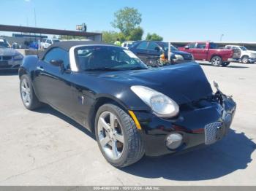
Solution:
<path fill-rule="evenodd" d="M 152 60 L 160 58 L 160 55 L 164 55 L 167 59 L 168 55 L 168 42 L 159 41 L 138 41 L 134 42 L 129 50 L 135 53 L 144 63 L 152 66 Z M 171 46 L 171 63 L 184 63 L 193 60 L 193 56 L 190 53 L 182 52 Z"/>

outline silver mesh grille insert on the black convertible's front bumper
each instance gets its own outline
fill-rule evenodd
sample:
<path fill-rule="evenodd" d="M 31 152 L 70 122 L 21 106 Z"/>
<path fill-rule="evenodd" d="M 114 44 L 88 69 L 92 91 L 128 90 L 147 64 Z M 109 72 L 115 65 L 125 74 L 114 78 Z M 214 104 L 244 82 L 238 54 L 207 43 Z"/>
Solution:
<path fill-rule="evenodd" d="M 213 122 L 205 126 L 206 144 L 214 144 L 217 139 L 217 131 L 222 127 L 222 122 Z"/>

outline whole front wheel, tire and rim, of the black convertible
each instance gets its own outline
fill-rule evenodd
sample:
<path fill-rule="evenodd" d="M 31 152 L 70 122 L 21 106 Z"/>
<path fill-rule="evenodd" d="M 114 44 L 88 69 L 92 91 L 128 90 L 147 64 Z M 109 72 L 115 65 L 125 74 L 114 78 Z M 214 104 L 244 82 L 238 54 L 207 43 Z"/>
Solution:
<path fill-rule="evenodd" d="M 114 119 L 112 122 L 110 122 L 110 116 Z M 104 120 L 103 123 L 102 119 Z M 135 122 L 123 109 L 113 104 L 100 106 L 94 124 L 99 149 L 108 163 L 117 168 L 122 168 L 136 163 L 143 157 L 144 146 L 141 136 Z M 113 136 L 115 131 L 116 136 Z M 123 139 L 120 138 L 121 136 Z"/>

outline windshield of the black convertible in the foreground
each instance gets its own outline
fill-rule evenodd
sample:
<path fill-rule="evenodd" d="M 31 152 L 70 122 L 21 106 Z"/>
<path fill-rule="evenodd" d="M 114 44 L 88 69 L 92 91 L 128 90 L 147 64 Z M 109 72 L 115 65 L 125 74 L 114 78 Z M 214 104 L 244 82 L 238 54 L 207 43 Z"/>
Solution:
<path fill-rule="evenodd" d="M 75 55 L 81 70 L 148 69 L 133 52 L 121 47 L 78 47 Z"/>

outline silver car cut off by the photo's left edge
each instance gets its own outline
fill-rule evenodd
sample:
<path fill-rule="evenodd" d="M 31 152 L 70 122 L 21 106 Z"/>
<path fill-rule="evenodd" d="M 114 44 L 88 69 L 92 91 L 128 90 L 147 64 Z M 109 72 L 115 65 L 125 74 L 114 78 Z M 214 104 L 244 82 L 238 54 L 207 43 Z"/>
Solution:
<path fill-rule="evenodd" d="M 23 61 L 23 55 L 11 48 L 6 39 L 0 38 L 0 70 L 18 69 Z"/>

